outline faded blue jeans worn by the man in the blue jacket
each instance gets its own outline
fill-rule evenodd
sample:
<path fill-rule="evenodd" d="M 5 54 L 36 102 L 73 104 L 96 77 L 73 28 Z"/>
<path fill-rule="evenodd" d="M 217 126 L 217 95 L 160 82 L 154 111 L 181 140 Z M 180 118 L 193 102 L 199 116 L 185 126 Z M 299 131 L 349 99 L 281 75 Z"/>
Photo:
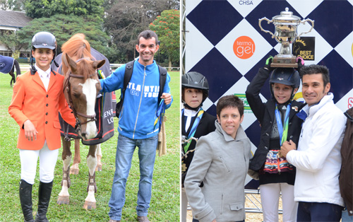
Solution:
<path fill-rule="evenodd" d="M 121 220 L 121 211 L 125 204 L 126 180 L 136 146 L 138 146 L 138 159 L 140 160 L 140 182 L 138 183 L 136 211 L 138 216 L 147 216 L 152 196 L 152 175 L 157 143 L 157 135 L 148 139 L 129 139 L 119 134 L 112 196 L 109 200 L 109 217 L 113 220 Z"/>

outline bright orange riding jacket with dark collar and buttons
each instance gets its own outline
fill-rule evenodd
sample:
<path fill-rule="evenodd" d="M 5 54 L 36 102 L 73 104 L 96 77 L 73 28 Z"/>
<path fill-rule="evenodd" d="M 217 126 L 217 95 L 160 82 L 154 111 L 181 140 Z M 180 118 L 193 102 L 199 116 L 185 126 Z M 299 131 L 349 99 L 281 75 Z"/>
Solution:
<path fill-rule="evenodd" d="M 63 93 L 64 76 L 55 71 L 50 73 L 48 90 L 45 90 L 39 74 L 30 71 L 18 76 L 13 86 L 11 105 L 8 113 L 20 126 L 17 148 L 40 150 L 47 140 L 50 150 L 61 147 L 59 112 L 61 117 L 75 126 L 76 119 L 68 107 Z M 25 138 L 23 123 L 30 119 L 37 129 L 37 140 Z"/>

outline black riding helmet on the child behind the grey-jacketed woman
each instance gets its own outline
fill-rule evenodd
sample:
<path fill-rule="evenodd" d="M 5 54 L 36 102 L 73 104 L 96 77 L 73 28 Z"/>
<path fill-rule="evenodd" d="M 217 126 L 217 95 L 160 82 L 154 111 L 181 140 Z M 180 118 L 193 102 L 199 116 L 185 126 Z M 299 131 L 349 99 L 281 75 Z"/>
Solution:
<path fill-rule="evenodd" d="M 203 91 L 202 102 L 208 97 L 208 81 L 203 74 L 196 71 L 190 71 L 181 76 L 181 89 L 184 88 L 197 88 Z M 202 104 L 202 103 L 201 103 Z"/>

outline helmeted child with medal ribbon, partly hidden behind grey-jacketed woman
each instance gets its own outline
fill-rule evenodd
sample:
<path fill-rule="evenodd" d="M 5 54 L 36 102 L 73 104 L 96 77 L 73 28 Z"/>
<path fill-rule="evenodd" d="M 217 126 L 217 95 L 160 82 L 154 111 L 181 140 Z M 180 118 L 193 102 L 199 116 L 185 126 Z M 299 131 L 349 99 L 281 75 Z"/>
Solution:
<path fill-rule="evenodd" d="M 215 131 L 216 117 L 204 112 L 201 107 L 203 101 L 208 97 L 208 90 L 208 81 L 202 74 L 191 71 L 181 76 L 181 100 L 184 104 L 184 109 L 181 110 L 181 135 L 184 140 L 192 137 L 198 139 Z M 193 159 L 195 146 L 195 140 L 181 143 L 181 222 L 186 222 L 188 199 L 184 180 Z M 193 221 L 198 220 L 193 219 Z"/>

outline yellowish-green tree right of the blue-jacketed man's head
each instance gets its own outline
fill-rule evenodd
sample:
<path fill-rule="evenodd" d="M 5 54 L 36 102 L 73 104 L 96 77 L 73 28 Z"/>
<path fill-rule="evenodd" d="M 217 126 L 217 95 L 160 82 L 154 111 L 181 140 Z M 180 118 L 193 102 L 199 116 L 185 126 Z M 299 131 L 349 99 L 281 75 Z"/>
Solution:
<path fill-rule="evenodd" d="M 155 31 L 160 40 L 160 53 L 168 58 L 169 67 L 179 64 L 180 41 L 180 13 L 179 10 L 162 11 L 155 21 L 150 23 L 150 30 Z"/>

